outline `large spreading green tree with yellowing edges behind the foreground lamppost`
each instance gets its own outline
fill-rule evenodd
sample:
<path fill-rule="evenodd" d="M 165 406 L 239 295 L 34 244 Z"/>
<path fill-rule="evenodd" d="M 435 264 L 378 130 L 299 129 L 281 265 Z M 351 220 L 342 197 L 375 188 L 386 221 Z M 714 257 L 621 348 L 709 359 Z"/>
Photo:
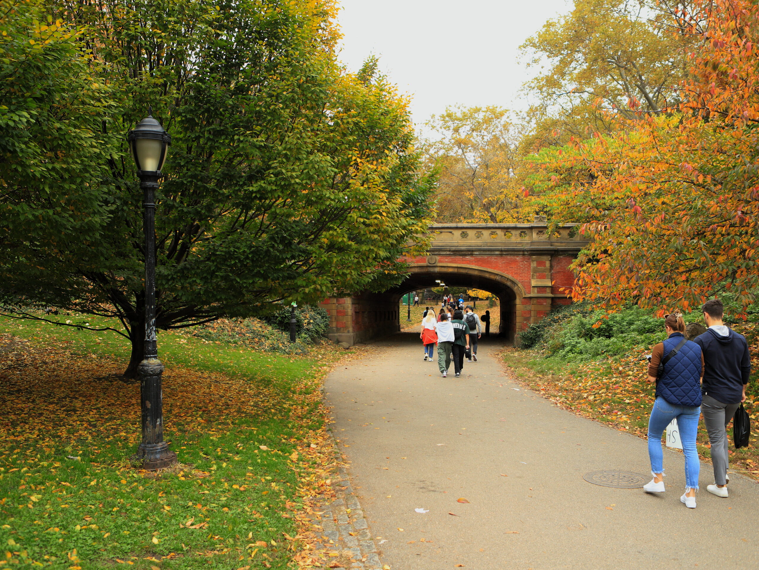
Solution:
<path fill-rule="evenodd" d="M 420 246 L 432 181 L 417 174 L 408 102 L 376 75 L 376 61 L 356 75 L 336 63 L 329 2 L 51 2 L 46 13 L 79 30 L 71 58 L 108 94 L 85 129 L 97 141 L 83 161 L 94 173 L 86 179 L 93 203 L 71 210 L 92 227 L 65 244 L 49 227 L 39 230 L 47 241 L 30 240 L 30 230 L 11 232 L 20 215 L 9 211 L 6 305 L 118 317 L 134 375 L 143 238 L 124 137 L 149 105 L 172 135 L 156 211 L 159 329 L 258 315 L 281 299 L 383 290 L 402 278 L 398 258 Z M 63 170 L 58 178 L 79 183 Z M 5 180 L 11 196 L 18 180 Z M 58 199 L 66 194 L 58 189 Z M 19 202 L 43 207 L 33 196 Z"/>

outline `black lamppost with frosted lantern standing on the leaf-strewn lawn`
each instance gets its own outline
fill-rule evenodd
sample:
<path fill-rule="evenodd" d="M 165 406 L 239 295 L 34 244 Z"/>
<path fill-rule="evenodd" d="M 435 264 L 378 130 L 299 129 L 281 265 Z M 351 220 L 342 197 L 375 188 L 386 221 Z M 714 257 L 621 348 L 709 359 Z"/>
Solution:
<path fill-rule="evenodd" d="M 153 118 L 151 109 L 148 116 L 129 131 L 127 140 L 143 190 L 145 233 L 145 354 L 137 367 L 143 437 L 137 456 L 143 460 L 143 468 L 155 470 L 177 461 L 177 454 L 169 450 L 163 440 L 163 365 L 158 359 L 156 341 L 156 189 L 163 177 L 161 167 L 172 137 Z"/>

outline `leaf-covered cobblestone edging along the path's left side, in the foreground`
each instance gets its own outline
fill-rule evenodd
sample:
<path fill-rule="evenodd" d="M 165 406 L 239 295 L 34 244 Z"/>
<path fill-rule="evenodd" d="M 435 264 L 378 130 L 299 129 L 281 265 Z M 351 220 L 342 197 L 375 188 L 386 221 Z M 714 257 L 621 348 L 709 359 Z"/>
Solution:
<path fill-rule="evenodd" d="M 335 443 L 335 453 L 340 457 L 340 451 Z M 317 549 L 326 550 L 331 554 L 333 562 L 343 570 L 382 570 L 379 561 L 379 551 L 369 531 L 369 524 L 361 509 L 361 503 L 354 493 L 348 471 L 344 467 L 338 469 L 338 476 L 332 480 L 334 500 L 323 500 L 319 503 L 321 524 L 314 522 L 314 532 L 321 537 Z"/>

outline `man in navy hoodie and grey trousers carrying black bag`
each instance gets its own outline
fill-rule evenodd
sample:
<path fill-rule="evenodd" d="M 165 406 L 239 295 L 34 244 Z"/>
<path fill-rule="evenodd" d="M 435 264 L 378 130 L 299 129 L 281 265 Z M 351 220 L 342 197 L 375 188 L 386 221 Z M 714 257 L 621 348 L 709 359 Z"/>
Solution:
<path fill-rule="evenodd" d="M 701 392 L 704 402 L 704 424 L 709 432 L 714 484 L 707 491 L 716 496 L 727 496 L 728 443 L 727 424 L 735 410 L 746 399 L 746 384 L 751 373 L 748 344 L 742 335 L 723 323 L 723 305 L 717 299 L 704 303 L 704 321 L 707 331 L 696 337 L 694 343 L 704 354 L 704 378 Z"/>

